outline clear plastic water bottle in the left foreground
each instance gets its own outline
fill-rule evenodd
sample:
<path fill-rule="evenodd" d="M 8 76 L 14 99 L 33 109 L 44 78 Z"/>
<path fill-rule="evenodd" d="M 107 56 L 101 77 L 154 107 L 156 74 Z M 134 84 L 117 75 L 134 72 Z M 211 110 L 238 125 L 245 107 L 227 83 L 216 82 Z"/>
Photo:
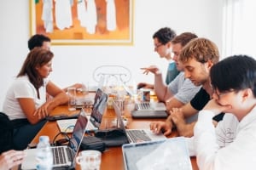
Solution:
<path fill-rule="evenodd" d="M 49 144 L 48 136 L 40 136 L 37 146 L 37 170 L 51 170 L 53 165 L 53 155 Z"/>

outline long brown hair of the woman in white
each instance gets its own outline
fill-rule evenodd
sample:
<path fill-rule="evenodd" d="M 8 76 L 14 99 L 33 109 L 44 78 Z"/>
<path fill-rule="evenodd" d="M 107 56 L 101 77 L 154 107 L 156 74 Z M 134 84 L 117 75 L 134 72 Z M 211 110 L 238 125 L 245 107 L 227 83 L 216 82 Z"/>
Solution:
<path fill-rule="evenodd" d="M 38 88 L 44 85 L 44 79 L 39 76 L 36 67 L 46 65 L 53 57 L 54 54 L 47 49 L 33 48 L 27 54 L 17 77 L 27 75 L 29 81 L 38 90 Z"/>

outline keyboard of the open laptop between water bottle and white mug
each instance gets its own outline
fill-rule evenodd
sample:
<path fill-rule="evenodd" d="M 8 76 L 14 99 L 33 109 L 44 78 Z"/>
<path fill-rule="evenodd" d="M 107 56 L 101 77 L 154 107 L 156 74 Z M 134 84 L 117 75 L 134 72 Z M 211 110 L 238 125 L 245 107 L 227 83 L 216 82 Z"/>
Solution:
<path fill-rule="evenodd" d="M 67 150 L 67 159 L 65 156 L 65 150 Z M 53 156 L 54 156 L 54 165 L 65 164 L 66 160 L 72 161 L 72 152 L 69 148 L 63 147 L 53 147 L 52 148 Z"/>

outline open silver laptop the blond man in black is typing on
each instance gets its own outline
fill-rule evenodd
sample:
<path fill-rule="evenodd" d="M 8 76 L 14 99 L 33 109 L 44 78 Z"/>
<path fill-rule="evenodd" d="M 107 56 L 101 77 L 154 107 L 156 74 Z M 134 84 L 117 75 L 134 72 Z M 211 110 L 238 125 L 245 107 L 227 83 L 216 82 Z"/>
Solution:
<path fill-rule="evenodd" d="M 124 131 L 129 143 L 166 139 L 166 136 L 163 133 L 155 134 L 150 129 L 125 129 L 121 111 L 119 106 L 114 101 L 113 109 L 119 122 L 119 128 Z"/>

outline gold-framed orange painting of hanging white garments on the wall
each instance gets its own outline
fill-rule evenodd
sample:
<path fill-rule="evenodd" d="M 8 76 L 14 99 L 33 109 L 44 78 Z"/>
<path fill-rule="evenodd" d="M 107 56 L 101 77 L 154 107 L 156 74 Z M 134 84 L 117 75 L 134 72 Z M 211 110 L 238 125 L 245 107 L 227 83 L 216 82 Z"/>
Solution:
<path fill-rule="evenodd" d="M 132 45 L 133 0 L 30 0 L 30 34 L 53 45 Z"/>

